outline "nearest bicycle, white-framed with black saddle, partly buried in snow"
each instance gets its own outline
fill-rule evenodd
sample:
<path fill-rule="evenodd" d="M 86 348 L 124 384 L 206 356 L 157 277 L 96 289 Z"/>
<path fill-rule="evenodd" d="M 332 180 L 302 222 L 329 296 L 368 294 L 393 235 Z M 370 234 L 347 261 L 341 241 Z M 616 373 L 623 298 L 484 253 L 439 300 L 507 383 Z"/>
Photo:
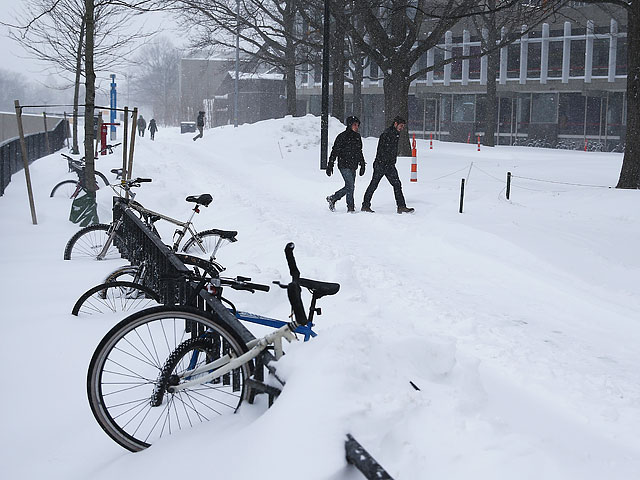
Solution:
<path fill-rule="evenodd" d="M 316 300 L 340 289 L 337 283 L 301 278 L 293 249 L 293 243 L 285 247 L 291 282 L 274 282 L 287 289 L 293 319 L 262 338 L 245 343 L 223 316 L 175 305 L 136 312 L 113 327 L 87 373 L 91 411 L 107 435 L 137 452 L 251 401 L 259 383 L 255 376 L 261 373 L 258 356 L 269 349 L 276 360 L 281 358 L 282 340 L 296 340 L 296 329 L 319 313 Z M 308 315 L 301 287 L 312 293 Z"/>

